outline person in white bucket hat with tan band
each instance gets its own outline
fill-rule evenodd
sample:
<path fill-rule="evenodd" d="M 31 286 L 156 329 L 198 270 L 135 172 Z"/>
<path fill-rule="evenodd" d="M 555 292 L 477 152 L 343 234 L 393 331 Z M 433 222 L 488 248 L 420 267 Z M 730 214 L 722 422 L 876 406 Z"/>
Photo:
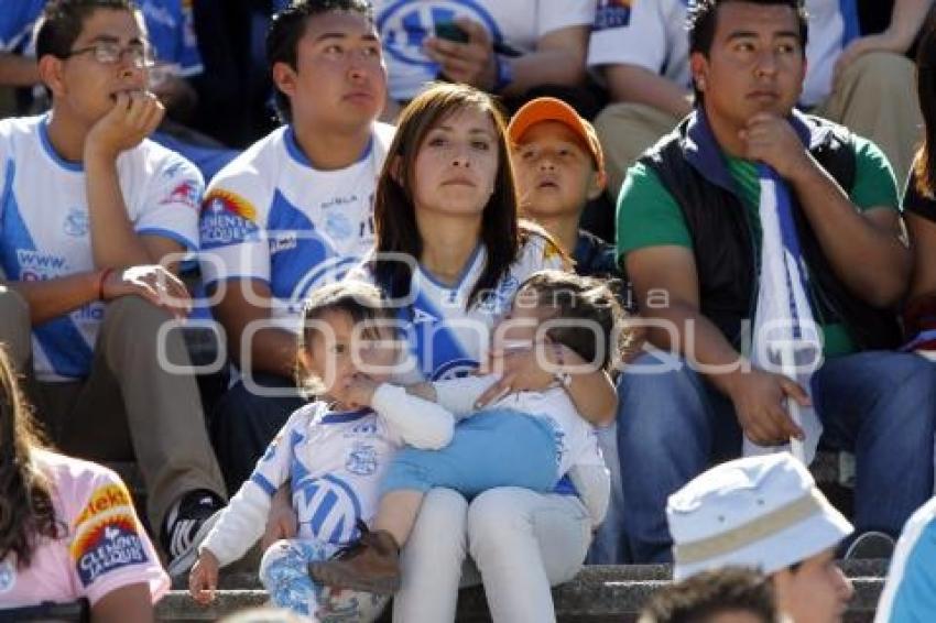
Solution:
<path fill-rule="evenodd" d="M 781 612 L 795 623 L 841 620 L 853 591 L 835 548 L 855 528 L 791 455 L 709 469 L 670 496 L 666 520 L 676 580 L 752 567 L 771 577 Z"/>

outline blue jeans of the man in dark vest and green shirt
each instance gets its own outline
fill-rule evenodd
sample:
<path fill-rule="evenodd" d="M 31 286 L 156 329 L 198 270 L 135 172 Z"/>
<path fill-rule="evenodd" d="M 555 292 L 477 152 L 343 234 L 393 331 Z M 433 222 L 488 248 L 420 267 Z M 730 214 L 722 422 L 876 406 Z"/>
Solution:
<path fill-rule="evenodd" d="M 618 394 L 618 449 L 624 531 L 634 562 L 672 560 L 666 498 L 721 460 L 738 457 L 741 429 L 731 402 L 668 354 L 633 365 Z M 936 368 L 906 353 L 869 351 L 828 359 L 813 375 L 813 402 L 826 447 L 853 452 L 857 533 L 896 536 L 933 494 Z"/>

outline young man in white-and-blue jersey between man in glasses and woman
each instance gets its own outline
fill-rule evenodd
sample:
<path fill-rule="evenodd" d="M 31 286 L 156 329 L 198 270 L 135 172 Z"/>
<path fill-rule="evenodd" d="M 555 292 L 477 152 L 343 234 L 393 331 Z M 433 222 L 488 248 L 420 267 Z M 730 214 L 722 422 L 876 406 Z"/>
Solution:
<path fill-rule="evenodd" d="M 225 167 L 202 206 L 203 275 L 243 376 L 211 418 L 231 490 L 303 403 L 292 378 L 302 300 L 372 245 L 393 133 L 376 121 L 387 69 L 369 2 L 295 2 L 266 48 L 285 125 Z"/>

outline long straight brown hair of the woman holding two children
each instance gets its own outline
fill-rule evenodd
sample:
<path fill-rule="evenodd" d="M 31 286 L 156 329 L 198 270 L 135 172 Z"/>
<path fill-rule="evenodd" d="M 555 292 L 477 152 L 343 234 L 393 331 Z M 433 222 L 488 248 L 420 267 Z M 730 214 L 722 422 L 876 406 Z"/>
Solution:
<path fill-rule="evenodd" d="M 429 131 L 438 123 L 467 108 L 477 108 L 493 121 L 498 135 L 498 174 L 494 192 L 481 215 L 481 243 L 487 262 L 478 283 L 471 288 L 466 307 L 479 303 L 481 293 L 490 292 L 507 274 L 520 252 L 527 231 L 521 231 L 516 216 L 516 188 L 510 164 L 504 116 L 488 94 L 467 85 L 435 84 L 422 91 L 403 109 L 396 134 L 383 163 L 373 200 L 377 234 L 377 259 L 371 267 L 377 283 L 392 298 L 410 292 L 410 266 L 381 260 L 382 253 L 406 253 L 418 260 L 423 239 L 416 227 L 413 205 L 415 162 Z"/>

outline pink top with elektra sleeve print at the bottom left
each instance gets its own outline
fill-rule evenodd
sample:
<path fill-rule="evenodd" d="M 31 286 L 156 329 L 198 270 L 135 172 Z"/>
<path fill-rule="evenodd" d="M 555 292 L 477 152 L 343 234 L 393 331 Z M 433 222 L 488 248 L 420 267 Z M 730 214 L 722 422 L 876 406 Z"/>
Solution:
<path fill-rule="evenodd" d="M 145 582 L 155 603 L 170 587 L 123 482 L 98 464 L 39 450 L 33 460 L 53 484 L 55 516 L 65 531 L 42 539 L 29 568 L 0 560 L 0 608 L 68 602 L 94 605 L 112 590 Z"/>

